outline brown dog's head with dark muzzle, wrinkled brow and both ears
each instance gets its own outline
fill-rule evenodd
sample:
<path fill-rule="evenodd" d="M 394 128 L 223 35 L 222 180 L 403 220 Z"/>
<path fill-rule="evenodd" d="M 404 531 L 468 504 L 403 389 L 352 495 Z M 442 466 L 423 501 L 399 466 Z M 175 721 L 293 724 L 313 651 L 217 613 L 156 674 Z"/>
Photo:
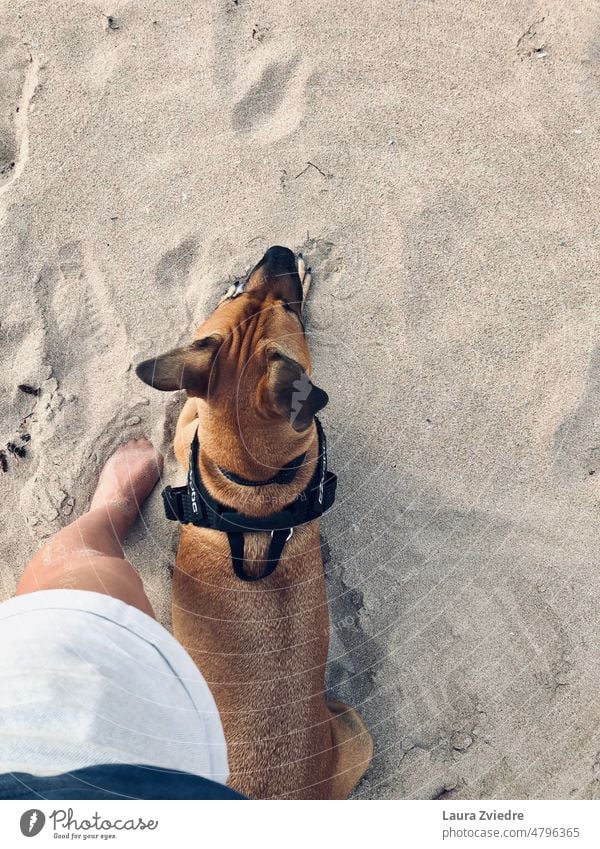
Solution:
<path fill-rule="evenodd" d="M 226 298 L 194 341 L 145 360 L 138 377 L 155 389 L 185 389 L 228 430 L 306 431 L 328 401 L 309 375 L 302 286 L 294 254 L 272 247 L 238 294 Z"/>

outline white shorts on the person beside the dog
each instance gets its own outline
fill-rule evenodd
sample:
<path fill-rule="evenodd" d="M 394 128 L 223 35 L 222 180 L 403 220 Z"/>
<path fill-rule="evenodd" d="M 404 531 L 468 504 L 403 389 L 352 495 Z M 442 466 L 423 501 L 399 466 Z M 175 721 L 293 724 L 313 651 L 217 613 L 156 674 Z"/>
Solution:
<path fill-rule="evenodd" d="M 217 707 L 191 657 L 150 616 L 100 593 L 0 604 L 0 773 L 114 763 L 227 781 Z"/>

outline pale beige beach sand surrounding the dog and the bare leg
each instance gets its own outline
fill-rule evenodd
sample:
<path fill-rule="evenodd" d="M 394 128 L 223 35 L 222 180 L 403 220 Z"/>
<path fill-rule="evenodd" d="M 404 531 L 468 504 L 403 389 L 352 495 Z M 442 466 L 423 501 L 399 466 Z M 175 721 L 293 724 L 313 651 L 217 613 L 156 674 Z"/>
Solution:
<path fill-rule="evenodd" d="M 356 795 L 600 797 L 599 104 L 589 2 L 3 0 L 1 597 L 121 441 L 179 479 L 132 364 L 289 245 Z M 167 626 L 175 546 L 156 491 Z"/>

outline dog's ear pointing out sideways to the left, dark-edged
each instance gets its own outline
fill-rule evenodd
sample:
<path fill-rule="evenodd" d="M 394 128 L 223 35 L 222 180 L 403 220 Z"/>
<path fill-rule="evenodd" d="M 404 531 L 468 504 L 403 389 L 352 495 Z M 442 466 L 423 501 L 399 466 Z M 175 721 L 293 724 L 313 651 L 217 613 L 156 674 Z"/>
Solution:
<path fill-rule="evenodd" d="M 140 363 L 135 373 L 154 389 L 174 392 L 186 389 L 188 395 L 206 397 L 214 359 L 223 337 L 217 333 L 196 339 L 190 345 L 174 348 Z"/>

